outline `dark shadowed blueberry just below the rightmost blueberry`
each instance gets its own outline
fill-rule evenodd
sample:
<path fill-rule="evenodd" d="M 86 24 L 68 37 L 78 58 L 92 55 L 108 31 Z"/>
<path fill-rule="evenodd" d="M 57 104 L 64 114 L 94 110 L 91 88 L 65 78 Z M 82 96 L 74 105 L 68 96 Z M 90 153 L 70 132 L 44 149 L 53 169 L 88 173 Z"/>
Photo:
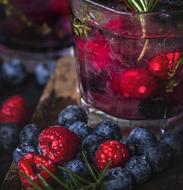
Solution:
<path fill-rule="evenodd" d="M 162 143 L 146 146 L 144 155 L 150 162 L 152 170 L 155 173 L 165 170 L 172 160 L 171 148 Z"/>

